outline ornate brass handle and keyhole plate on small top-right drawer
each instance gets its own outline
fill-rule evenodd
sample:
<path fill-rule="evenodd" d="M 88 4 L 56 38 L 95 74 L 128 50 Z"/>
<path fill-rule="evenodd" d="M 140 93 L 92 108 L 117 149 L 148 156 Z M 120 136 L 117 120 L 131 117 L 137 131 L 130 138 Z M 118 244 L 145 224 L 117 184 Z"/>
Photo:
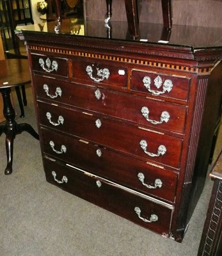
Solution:
<path fill-rule="evenodd" d="M 162 91 L 155 91 L 150 88 L 151 79 L 148 76 L 145 76 L 143 78 L 143 84 L 144 84 L 145 88 L 147 88 L 148 92 L 152 93 L 153 95 L 161 95 L 165 92 L 170 92 L 171 89 L 173 88 L 173 83 L 170 79 L 165 80 L 164 84 L 163 84 L 162 78 L 160 76 L 155 77 L 154 84 L 157 89 L 161 88 L 161 86 L 163 84 Z"/>

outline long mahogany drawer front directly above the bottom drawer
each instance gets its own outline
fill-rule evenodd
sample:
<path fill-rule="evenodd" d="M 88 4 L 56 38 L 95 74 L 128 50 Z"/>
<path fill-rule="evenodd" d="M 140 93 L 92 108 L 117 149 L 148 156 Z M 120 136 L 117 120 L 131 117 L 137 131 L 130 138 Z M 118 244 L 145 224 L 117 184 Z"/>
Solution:
<path fill-rule="evenodd" d="M 174 202 L 177 174 L 144 161 L 41 129 L 44 153 L 147 195 Z"/>

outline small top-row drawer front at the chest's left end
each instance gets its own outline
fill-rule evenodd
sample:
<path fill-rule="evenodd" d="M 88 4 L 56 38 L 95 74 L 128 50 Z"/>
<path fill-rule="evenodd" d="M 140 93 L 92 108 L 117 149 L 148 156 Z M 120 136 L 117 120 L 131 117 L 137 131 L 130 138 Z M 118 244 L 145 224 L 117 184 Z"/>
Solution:
<path fill-rule="evenodd" d="M 40 54 L 31 54 L 31 63 L 34 71 L 44 72 L 56 76 L 68 76 L 67 59 L 55 58 Z"/>

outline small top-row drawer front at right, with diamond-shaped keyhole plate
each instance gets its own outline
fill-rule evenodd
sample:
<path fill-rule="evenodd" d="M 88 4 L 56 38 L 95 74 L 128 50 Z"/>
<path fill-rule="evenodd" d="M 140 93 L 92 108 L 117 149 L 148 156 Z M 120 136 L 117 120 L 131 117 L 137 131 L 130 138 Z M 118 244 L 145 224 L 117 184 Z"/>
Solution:
<path fill-rule="evenodd" d="M 152 72 L 132 71 L 131 90 L 155 97 L 188 100 L 191 79 Z"/>

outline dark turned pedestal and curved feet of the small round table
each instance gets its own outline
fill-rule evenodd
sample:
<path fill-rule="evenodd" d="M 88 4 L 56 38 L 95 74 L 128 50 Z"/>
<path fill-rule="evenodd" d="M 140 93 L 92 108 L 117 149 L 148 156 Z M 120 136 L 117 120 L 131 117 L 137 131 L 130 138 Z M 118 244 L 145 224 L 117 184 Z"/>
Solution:
<path fill-rule="evenodd" d="M 1 134 L 6 134 L 6 155 L 7 155 L 7 166 L 4 170 L 6 175 L 12 173 L 12 161 L 13 161 L 13 141 L 17 134 L 23 131 L 29 132 L 36 140 L 39 140 L 38 134 L 35 132 L 33 127 L 29 124 L 17 124 L 15 122 L 15 110 L 13 109 L 12 102 L 10 99 L 10 88 L 1 88 L 1 94 L 3 95 L 3 115 L 6 118 L 6 124 L 0 126 L 0 136 Z"/>

